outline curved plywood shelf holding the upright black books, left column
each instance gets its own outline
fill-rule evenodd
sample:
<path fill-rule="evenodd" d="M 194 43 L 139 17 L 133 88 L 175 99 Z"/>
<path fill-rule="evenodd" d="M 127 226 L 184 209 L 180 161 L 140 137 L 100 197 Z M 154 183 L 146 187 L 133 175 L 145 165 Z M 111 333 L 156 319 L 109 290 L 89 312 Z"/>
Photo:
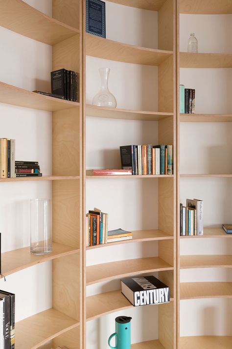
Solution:
<path fill-rule="evenodd" d="M 4 82 L 0 82 L 0 103 L 46 111 L 79 107 L 79 103 L 44 96 Z"/>

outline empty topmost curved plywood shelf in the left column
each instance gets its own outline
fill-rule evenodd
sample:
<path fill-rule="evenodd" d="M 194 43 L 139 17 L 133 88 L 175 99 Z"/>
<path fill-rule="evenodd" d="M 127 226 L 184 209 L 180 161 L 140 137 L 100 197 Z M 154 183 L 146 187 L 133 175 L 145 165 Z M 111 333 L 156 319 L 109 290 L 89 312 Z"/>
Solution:
<path fill-rule="evenodd" d="M 22 0 L 0 1 L 0 26 L 48 45 L 55 45 L 79 30 L 55 20 Z"/>

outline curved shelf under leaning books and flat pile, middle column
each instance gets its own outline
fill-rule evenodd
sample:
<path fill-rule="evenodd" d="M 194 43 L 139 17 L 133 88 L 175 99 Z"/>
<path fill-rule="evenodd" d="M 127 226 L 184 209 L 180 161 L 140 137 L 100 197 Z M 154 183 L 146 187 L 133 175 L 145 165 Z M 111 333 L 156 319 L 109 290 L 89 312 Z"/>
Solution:
<path fill-rule="evenodd" d="M 155 230 L 136 230 L 136 231 L 132 231 L 132 233 L 133 233 L 133 236 L 132 236 L 133 239 L 131 239 L 131 240 L 109 242 L 109 243 L 104 243 L 102 245 L 89 246 L 89 247 L 86 247 L 86 249 L 90 250 L 90 249 L 118 245 L 118 244 L 122 244 L 122 243 L 130 243 L 130 242 L 173 240 L 173 236 L 171 236 L 167 233 L 164 233 L 162 230 L 158 230 L 158 229 L 155 229 Z"/>

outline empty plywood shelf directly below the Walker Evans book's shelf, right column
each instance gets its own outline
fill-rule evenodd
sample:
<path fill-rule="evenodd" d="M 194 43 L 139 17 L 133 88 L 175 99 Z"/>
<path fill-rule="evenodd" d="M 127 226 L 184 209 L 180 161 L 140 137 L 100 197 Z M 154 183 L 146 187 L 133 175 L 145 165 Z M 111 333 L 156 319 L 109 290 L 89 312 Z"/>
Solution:
<path fill-rule="evenodd" d="M 232 255 L 186 255 L 181 256 L 181 269 L 232 268 Z"/>

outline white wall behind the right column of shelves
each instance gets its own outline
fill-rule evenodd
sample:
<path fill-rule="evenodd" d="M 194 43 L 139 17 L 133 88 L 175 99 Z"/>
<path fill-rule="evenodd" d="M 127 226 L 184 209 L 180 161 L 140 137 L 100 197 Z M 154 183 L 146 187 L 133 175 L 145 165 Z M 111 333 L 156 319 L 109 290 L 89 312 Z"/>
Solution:
<path fill-rule="evenodd" d="M 191 32 L 199 53 L 231 53 L 232 15 L 180 15 L 180 51 Z M 231 113 L 232 69 L 181 69 L 180 83 L 196 89 L 196 113 Z M 232 173 L 231 123 L 181 123 L 181 173 Z M 180 202 L 204 201 L 204 226 L 231 223 L 231 178 L 182 178 Z M 231 239 L 182 239 L 181 255 L 232 254 Z M 181 270 L 181 282 L 232 281 L 230 268 Z M 231 299 L 182 300 L 181 336 L 232 335 Z"/>

